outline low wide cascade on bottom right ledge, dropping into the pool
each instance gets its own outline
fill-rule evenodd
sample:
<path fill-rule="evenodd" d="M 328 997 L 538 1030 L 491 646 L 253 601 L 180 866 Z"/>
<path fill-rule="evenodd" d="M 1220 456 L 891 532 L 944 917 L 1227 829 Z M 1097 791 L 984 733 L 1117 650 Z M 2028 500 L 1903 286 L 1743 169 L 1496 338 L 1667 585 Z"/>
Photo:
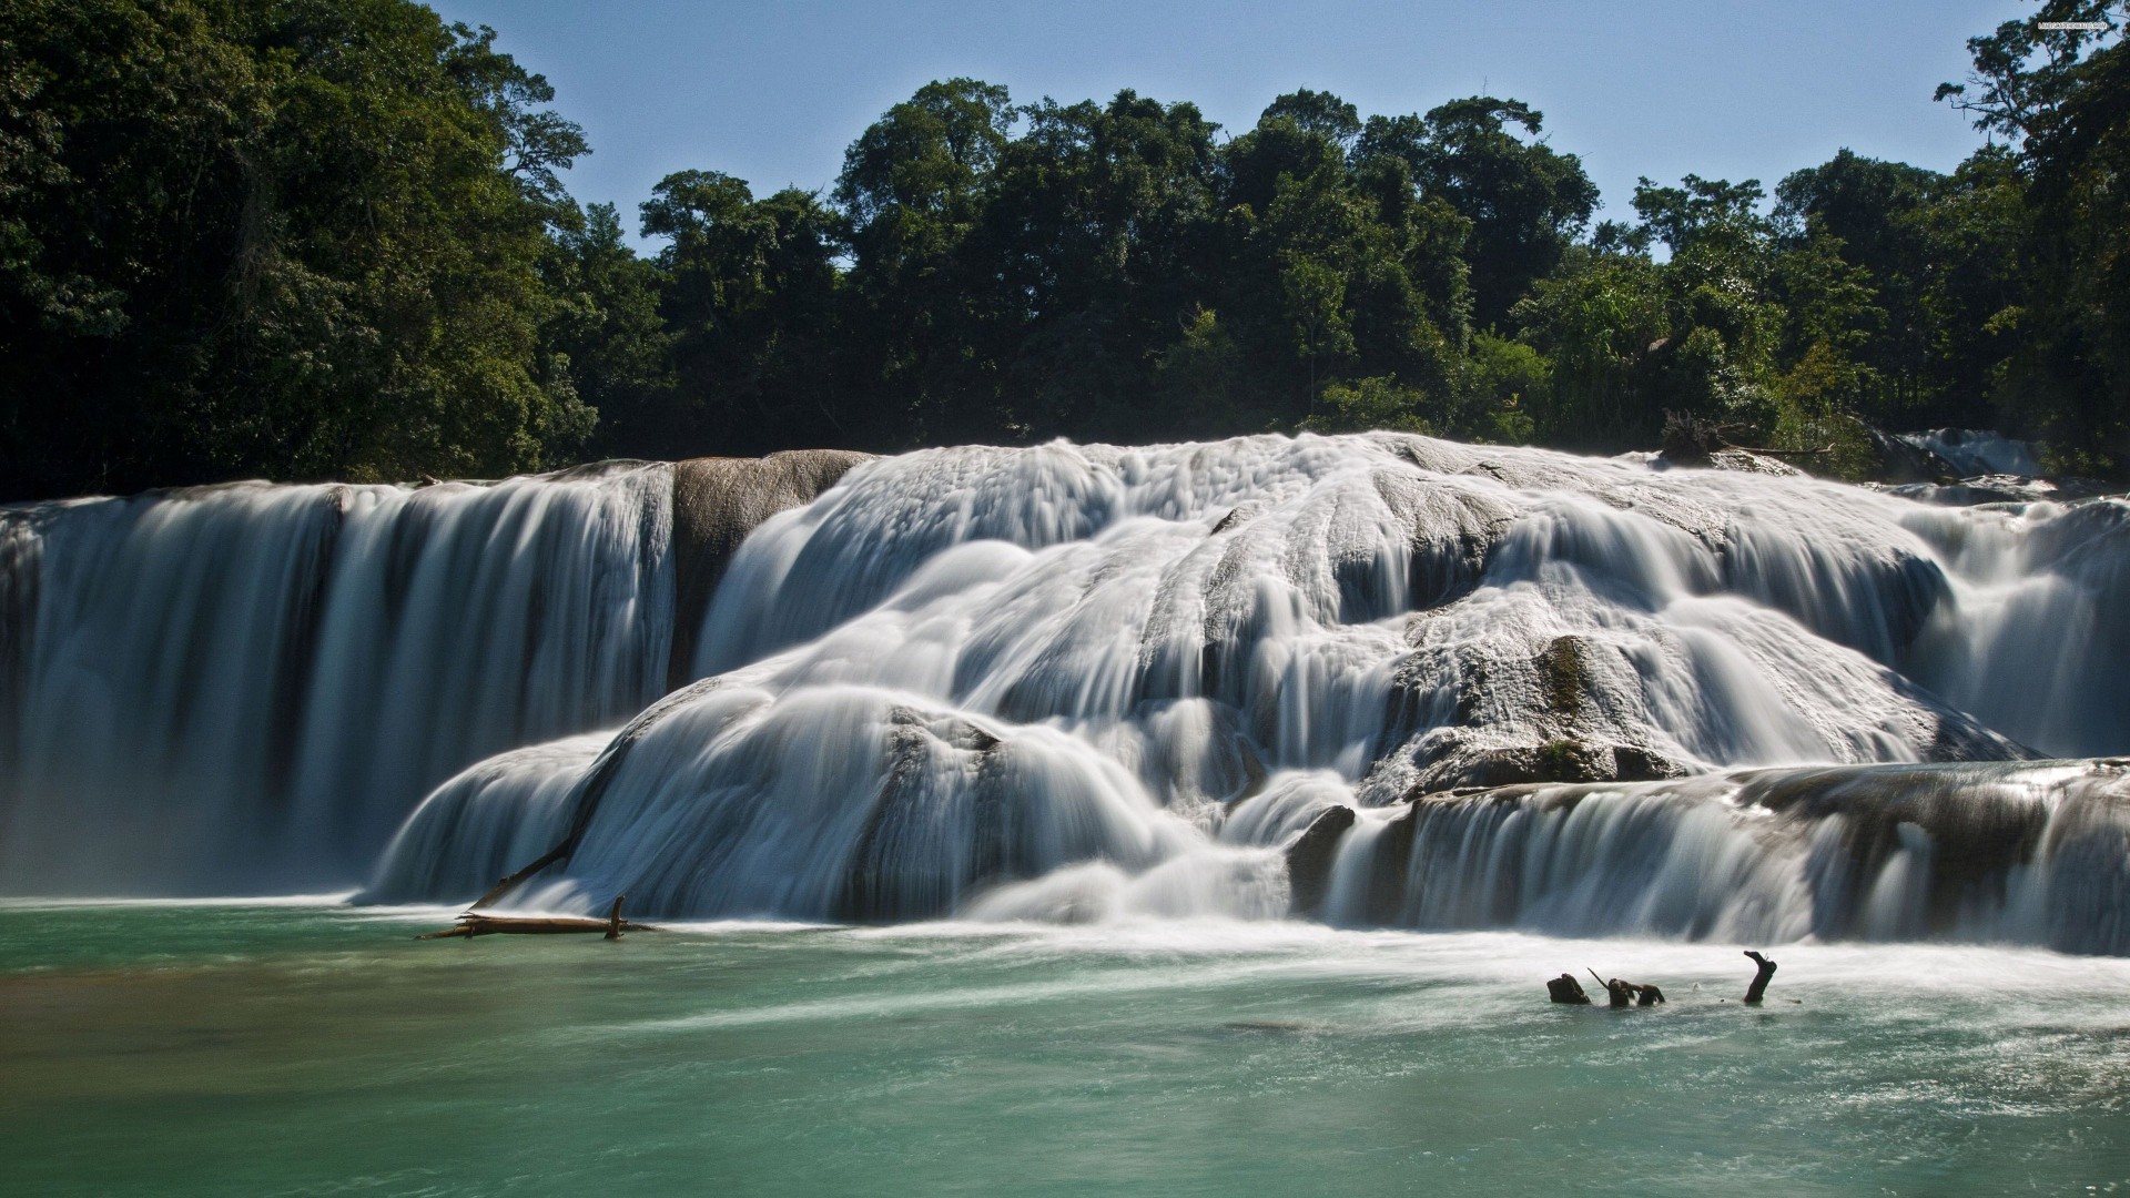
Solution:
<path fill-rule="evenodd" d="M 1363 827 L 1340 870 L 1378 880 L 1342 908 L 1365 923 L 2130 953 L 2130 761 L 1504 787 Z"/>

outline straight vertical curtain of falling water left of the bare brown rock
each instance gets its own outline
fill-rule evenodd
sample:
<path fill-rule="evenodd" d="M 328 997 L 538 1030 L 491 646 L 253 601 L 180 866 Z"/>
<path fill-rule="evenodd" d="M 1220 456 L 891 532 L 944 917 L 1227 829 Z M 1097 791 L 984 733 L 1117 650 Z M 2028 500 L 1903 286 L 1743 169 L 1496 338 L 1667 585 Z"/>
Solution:
<path fill-rule="evenodd" d="M 665 682 L 667 465 L 236 484 L 0 514 L 0 880 L 358 878 L 490 752 Z"/>

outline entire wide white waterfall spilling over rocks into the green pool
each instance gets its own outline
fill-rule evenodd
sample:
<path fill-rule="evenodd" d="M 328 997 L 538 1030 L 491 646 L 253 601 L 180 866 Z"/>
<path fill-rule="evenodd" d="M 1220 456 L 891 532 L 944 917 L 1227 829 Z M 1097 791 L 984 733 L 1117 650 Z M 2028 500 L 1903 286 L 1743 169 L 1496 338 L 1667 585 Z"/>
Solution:
<path fill-rule="evenodd" d="M 501 563 L 473 533 L 460 548 L 447 608 L 484 644 L 524 637 L 522 659 L 405 640 L 405 597 L 341 595 L 403 593 L 390 554 L 311 548 L 332 558 L 328 584 L 294 582 L 315 535 L 283 507 L 428 492 L 11 514 L 0 885 L 79 889 L 79 861 L 111 859 L 66 855 L 81 819 L 285 842 L 317 812 L 398 823 L 441 782 L 371 897 L 471 900 L 560 844 L 507 902 L 626 891 L 656 917 L 858 921 L 1299 906 L 1414 927 L 2130 953 L 2115 767 L 2026 765 L 2130 748 L 2121 501 L 1951 509 L 1404 435 L 956 448 L 843 463 L 839 482 L 758 505 L 718 580 L 673 550 L 701 537 L 673 531 L 660 469 L 464 488 L 469 507 L 513 488 L 599 495 L 581 512 L 550 501 L 539 527 L 577 529 L 573 548 L 541 533 L 552 556 L 501 548 L 545 544 L 526 531 L 481 535 Z M 190 550 L 151 527 L 217 501 L 226 524 Z M 571 616 L 590 640 L 537 657 L 550 642 L 501 582 L 513 561 L 554 582 L 528 584 L 543 629 L 603 612 Z M 190 595 L 194 569 L 243 580 L 217 584 L 224 605 L 264 610 L 102 612 L 68 582 L 151 569 L 168 580 L 134 590 Z M 490 590 L 464 586 L 484 569 Z M 671 601 L 690 571 L 714 580 L 694 586 L 701 614 Z M 571 599 L 569 578 L 607 580 L 613 601 Z M 375 614 L 332 622 L 341 605 Z M 302 620 L 354 631 L 285 631 Z M 294 652 L 305 637 L 347 648 Z M 104 654 L 100 693 L 68 689 L 64 654 L 89 652 L 70 642 Z M 426 682 L 394 689 L 390 661 L 426 663 Z M 23 827 L 38 848 L 17 853 Z M 337 844 L 334 863 L 377 840 Z M 239 859 L 190 857 L 187 876 Z"/>

